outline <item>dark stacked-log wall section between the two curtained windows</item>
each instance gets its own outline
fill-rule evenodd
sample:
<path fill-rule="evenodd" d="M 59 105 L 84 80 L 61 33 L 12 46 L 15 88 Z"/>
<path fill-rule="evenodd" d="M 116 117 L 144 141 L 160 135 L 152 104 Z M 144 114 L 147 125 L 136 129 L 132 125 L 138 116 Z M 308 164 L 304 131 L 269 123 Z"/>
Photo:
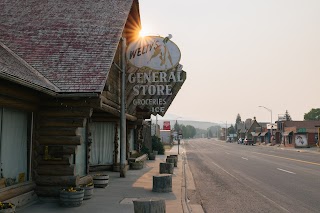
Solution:
<path fill-rule="evenodd" d="M 99 107 L 100 103 L 93 99 L 43 101 L 36 118 L 34 139 L 33 165 L 38 195 L 58 196 L 61 187 L 79 185 L 73 157 L 76 147 L 86 140 L 80 129 L 86 128 L 92 106 Z M 89 151 L 90 144 L 89 140 Z"/>

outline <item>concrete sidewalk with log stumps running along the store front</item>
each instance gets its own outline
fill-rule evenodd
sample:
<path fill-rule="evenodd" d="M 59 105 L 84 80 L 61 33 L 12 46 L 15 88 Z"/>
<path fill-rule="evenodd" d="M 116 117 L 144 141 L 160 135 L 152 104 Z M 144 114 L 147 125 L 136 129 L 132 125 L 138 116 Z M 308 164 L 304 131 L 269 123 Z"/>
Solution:
<path fill-rule="evenodd" d="M 120 178 L 119 172 L 107 171 L 109 185 L 106 188 L 95 188 L 94 195 L 89 200 L 84 200 L 80 207 L 65 208 L 59 205 L 58 199 L 39 199 L 31 206 L 17 209 L 19 213 L 44 213 L 44 212 L 75 212 L 75 213 L 133 213 L 133 200 L 139 198 L 157 197 L 166 202 L 166 212 L 189 212 L 186 203 L 186 184 L 184 172 L 184 149 L 179 146 L 178 167 L 174 168 L 172 175 L 172 192 L 152 192 L 153 176 L 159 174 L 159 163 L 166 161 L 166 156 L 178 154 L 178 146 L 174 145 L 165 155 L 157 155 L 156 160 L 146 161 L 146 166 L 141 170 L 128 170 L 125 178 Z"/>

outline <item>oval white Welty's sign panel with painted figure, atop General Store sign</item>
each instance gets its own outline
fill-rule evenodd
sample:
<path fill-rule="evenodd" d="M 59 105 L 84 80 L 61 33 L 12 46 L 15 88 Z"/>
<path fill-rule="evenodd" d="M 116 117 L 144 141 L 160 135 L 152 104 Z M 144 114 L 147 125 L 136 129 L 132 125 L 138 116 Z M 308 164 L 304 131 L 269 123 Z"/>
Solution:
<path fill-rule="evenodd" d="M 132 42 L 127 49 L 127 60 L 135 67 L 163 71 L 179 64 L 181 53 L 168 37 L 146 36 Z"/>

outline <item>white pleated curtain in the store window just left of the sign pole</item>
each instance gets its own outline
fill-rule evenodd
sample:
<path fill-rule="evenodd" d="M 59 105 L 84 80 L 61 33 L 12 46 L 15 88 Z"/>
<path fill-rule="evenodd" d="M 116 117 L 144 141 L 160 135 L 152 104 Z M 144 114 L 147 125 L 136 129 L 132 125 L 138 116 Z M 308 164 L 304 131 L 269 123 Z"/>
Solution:
<path fill-rule="evenodd" d="M 91 165 L 113 163 L 115 124 L 94 122 L 90 124 L 92 144 L 90 154 Z"/>

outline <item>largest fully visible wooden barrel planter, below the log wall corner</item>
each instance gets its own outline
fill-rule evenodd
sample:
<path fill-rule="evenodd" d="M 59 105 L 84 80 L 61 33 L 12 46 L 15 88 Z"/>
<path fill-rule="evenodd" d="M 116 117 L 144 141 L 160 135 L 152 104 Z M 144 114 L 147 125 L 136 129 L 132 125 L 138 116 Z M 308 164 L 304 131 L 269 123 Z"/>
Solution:
<path fill-rule="evenodd" d="M 60 205 L 64 207 L 77 207 L 81 206 L 84 189 L 74 188 L 74 191 L 68 191 L 67 189 L 62 189 L 60 191 Z"/>

